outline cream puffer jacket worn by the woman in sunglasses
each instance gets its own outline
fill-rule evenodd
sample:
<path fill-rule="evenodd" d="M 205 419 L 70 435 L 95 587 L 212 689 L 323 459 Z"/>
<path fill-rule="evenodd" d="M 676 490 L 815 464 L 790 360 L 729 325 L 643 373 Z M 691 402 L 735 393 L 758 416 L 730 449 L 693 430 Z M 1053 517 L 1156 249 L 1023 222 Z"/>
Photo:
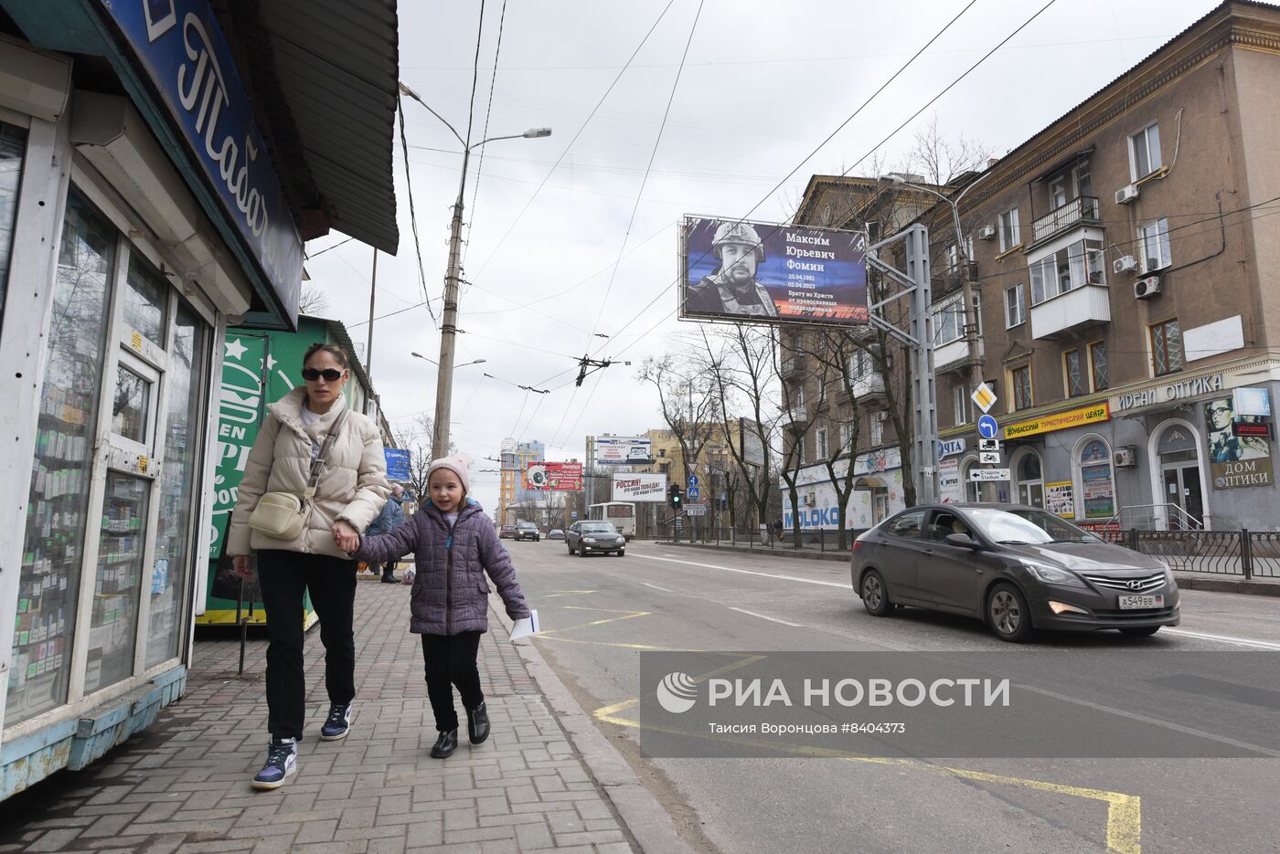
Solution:
<path fill-rule="evenodd" d="M 356 531 L 364 531 L 390 495 L 378 427 L 365 415 L 348 412 L 342 433 L 329 449 L 329 462 L 316 485 L 311 515 L 298 538 L 275 540 L 248 527 L 248 516 L 264 492 L 292 492 L 302 497 L 311 468 L 311 444 L 324 444 L 329 427 L 347 405 L 346 395 L 340 395 L 320 421 L 303 426 L 305 400 L 306 389 L 294 389 L 266 408 L 269 414 L 248 454 L 232 511 L 227 533 L 228 555 L 280 548 L 347 557 L 333 541 L 333 523 L 344 519 Z"/>

